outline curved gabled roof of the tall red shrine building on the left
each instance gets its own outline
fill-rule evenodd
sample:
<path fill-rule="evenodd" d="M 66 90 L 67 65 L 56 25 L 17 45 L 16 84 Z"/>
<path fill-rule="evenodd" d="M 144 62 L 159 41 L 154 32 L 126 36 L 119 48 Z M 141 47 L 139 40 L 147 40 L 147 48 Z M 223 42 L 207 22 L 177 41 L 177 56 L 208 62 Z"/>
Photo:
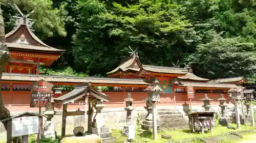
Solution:
<path fill-rule="evenodd" d="M 38 39 L 27 25 L 23 24 L 19 24 L 13 31 L 6 34 L 5 37 L 9 49 L 59 54 L 66 51 L 48 46 Z"/>

